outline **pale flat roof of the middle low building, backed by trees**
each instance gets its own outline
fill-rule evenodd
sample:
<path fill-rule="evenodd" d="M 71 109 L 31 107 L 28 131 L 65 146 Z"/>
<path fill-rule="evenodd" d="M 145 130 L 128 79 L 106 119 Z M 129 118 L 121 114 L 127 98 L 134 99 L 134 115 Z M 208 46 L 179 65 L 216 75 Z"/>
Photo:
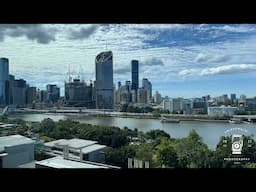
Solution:
<path fill-rule="evenodd" d="M 85 140 L 85 139 L 60 139 L 60 140 L 56 140 L 56 141 L 51 141 L 48 143 L 45 143 L 45 146 L 47 147 L 53 147 L 53 146 L 64 146 L 64 145 L 68 145 L 71 148 L 74 149 L 80 149 L 80 148 L 84 148 L 90 145 L 93 145 L 97 143 L 97 141 L 91 141 L 91 140 Z"/>

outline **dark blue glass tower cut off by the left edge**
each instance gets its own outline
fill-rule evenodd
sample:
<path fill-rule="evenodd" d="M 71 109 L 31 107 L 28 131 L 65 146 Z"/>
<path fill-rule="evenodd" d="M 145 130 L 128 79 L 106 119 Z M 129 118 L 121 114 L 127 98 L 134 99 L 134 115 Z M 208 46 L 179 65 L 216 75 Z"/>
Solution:
<path fill-rule="evenodd" d="M 9 60 L 0 58 L 0 105 L 6 105 L 6 84 L 9 79 Z"/>

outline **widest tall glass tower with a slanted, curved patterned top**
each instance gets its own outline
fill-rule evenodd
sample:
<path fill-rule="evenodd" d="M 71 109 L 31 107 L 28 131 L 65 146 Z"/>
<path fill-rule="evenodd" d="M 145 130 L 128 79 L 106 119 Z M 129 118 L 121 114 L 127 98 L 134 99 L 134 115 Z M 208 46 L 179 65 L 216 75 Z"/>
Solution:
<path fill-rule="evenodd" d="M 112 51 L 101 52 L 95 59 L 96 67 L 96 108 L 113 109 L 113 54 Z"/>

